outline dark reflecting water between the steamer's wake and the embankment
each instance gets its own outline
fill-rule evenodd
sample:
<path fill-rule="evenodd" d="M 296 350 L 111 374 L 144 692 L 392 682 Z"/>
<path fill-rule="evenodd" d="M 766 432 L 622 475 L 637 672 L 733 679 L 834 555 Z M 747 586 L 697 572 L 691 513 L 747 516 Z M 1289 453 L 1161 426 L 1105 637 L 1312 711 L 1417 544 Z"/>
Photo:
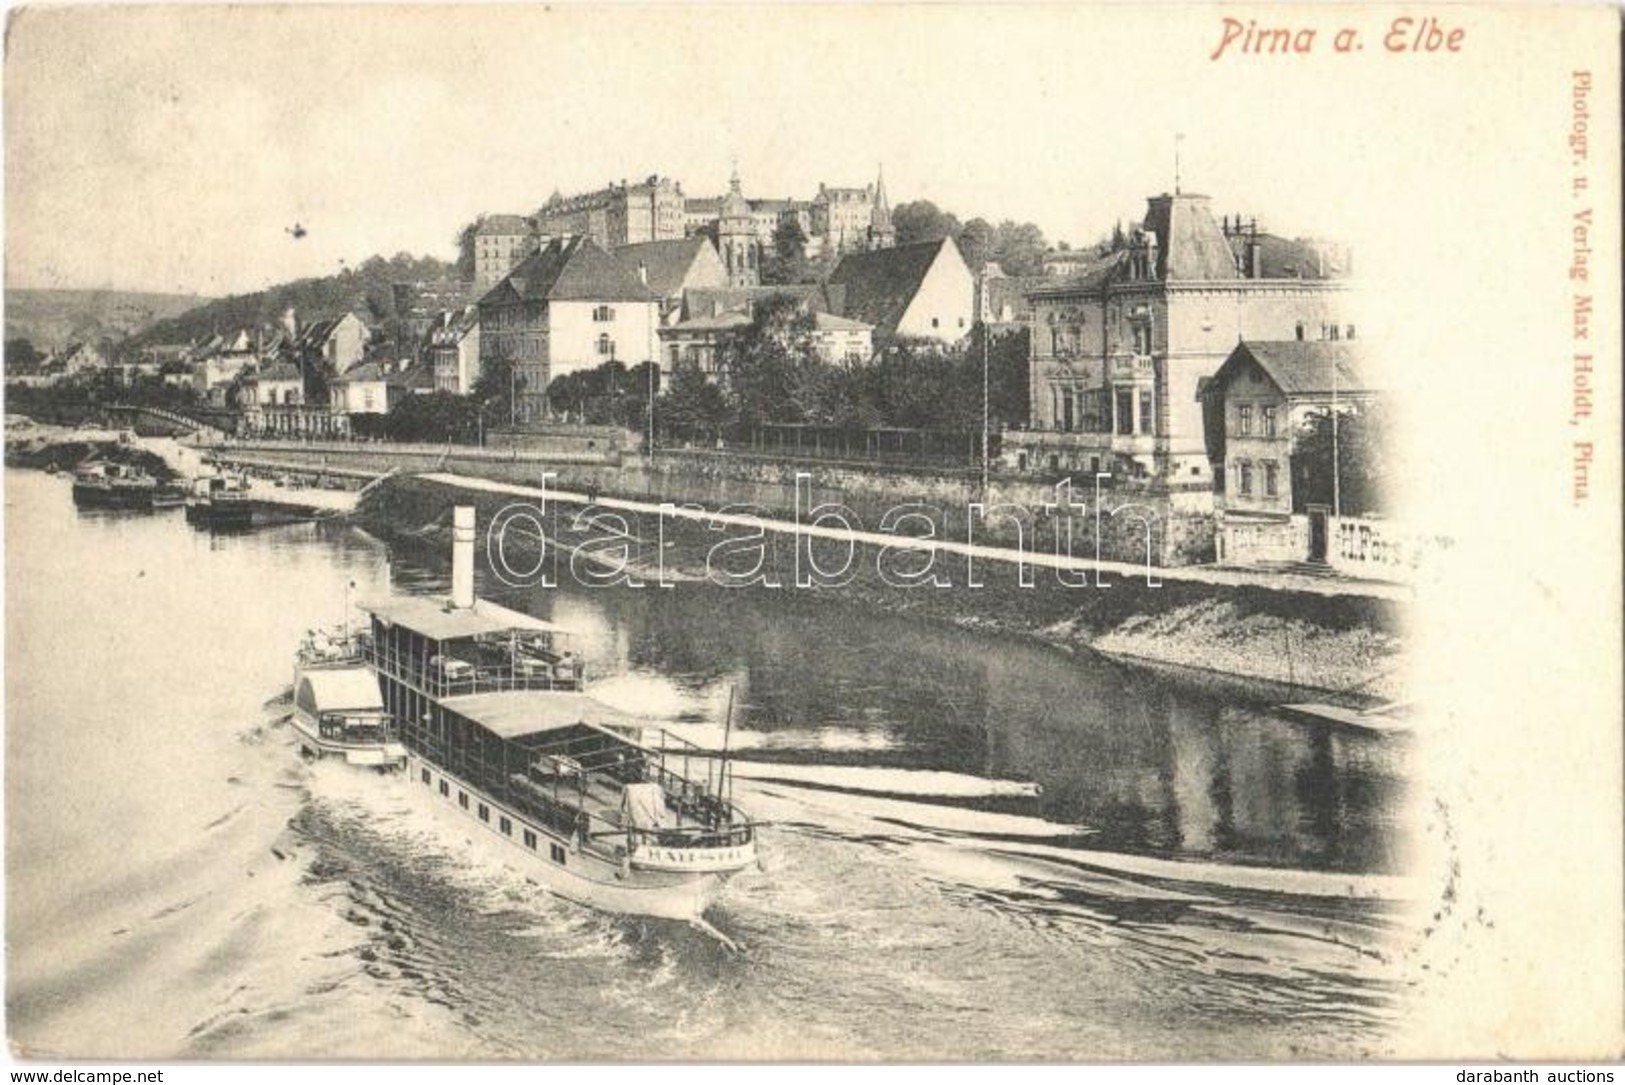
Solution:
<path fill-rule="evenodd" d="M 413 557 L 396 555 L 413 590 L 442 586 Z M 1076 825 L 1094 848 L 1401 869 L 1406 742 L 1284 720 L 1240 684 L 1202 689 L 829 594 L 567 580 L 492 594 L 580 630 L 601 697 L 700 746 L 722 746 L 731 687 L 733 746 L 752 762 L 1032 783 L 939 801 Z"/>

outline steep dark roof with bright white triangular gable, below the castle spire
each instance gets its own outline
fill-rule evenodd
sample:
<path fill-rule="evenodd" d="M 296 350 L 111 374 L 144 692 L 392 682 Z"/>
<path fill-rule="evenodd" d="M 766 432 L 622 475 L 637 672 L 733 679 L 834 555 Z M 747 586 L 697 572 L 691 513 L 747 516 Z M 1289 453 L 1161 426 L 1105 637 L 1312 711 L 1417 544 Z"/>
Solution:
<path fill-rule="evenodd" d="M 959 343 L 975 318 L 977 283 L 952 237 L 840 258 L 826 284 L 830 310 L 874 339 Z"/>

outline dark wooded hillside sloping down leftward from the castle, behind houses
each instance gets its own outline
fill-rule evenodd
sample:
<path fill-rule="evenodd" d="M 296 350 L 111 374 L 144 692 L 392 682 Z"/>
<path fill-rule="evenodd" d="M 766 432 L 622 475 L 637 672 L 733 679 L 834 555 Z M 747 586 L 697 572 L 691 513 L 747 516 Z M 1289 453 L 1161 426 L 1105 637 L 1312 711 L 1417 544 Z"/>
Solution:
<path fill-rule="evenodd" d="M 353 310 L 375 328 L 395 318 L 396 283 L 432 283 L 455 278 L 455 265 L 432 257 L 400 253 L 372 257 L 358 268 L 315 279 L 296 279 L 205 302 L 179 315 L 153 322 L 119 344 L 120 352 L 158 343 L 192 343 L 237 328 L 271 326 L 292 309 L 301 322 Z"/>

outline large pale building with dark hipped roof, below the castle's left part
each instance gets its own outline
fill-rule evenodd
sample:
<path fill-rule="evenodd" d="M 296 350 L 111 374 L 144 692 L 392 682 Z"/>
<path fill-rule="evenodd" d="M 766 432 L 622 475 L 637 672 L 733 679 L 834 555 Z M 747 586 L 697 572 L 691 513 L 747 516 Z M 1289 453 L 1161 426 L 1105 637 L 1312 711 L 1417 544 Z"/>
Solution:
<path fill-rule="evenodd" d="M 512 362 L 518 421 L 548 414 L 554 377 L 655 357 L 660 297 L 590 237 L 552 240 L 479 299 L 481 365 Z"/>

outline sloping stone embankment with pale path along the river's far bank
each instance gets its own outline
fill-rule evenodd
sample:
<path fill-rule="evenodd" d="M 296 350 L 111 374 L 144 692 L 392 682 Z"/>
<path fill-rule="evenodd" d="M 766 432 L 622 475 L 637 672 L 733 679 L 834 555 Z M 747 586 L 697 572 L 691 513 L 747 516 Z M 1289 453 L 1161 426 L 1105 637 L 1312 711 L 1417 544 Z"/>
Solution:
<path fill-rule="evenodd" d="M 585 564 L 598 572 L 619 565 L 644 585 L 658 570 L 666 572 L 668 581 L 718 585 L 757 560 L 741 557 L 734 546 L 748 534 L 746 528 L 710 518 L 704 510 L 661 517 L 647 502 L 600 499 L 595 521 L 585 525 L 577 515 L 585 494 L 549 491 L 549 497 L 552 515 L 544 526 L 556 555 L 562 555 L 561 575 L 582 568 L 578 562 L 587 557 Z M 481 523 L 489 525 L 505 505 L 526 499 L 535 500 L 535 492 L 484 479 L 395 478 L 367 495 L 359 515 L 379 534 L 432 544 L 447 531 L 453 504 L 473 502 Z M 1284 694 L 1315 690 L 1350 707 L 1404 697 L 1401 663 L 1409 607 L 1402 593 L 1315 578 L 1282 586 L 1280 578 L 1248 581 L 1230 570 L 1214 570 L 1227 575 L 1204 578 L 1191 568 L 1159 570 L 1154 583 L 1147 583 L 1144 568 L 1112 564 L 1068 570 L 1029 567 L 1024 573 L 991 549 L 965 554 L 959 544 L 944 544 L 933 559 L 949 588 L 899 586 L 895 577 L 881 575 L 881 564 L 918 567 L 921 552 L 887 554 L 884 542 L 868 538 L 809 539 L 786 523 L 764 528 L 762 575 L 748 590 L 804 590 L 843 604 L 1178 668 L 1199 681 L 1230 677 L 1277 685 Z M 523 533 L 517 541 L 525 546 Z M 852 575 L 838 586 L 821 585 L 817 578 L 798 586 L 798 573 L 804 573 L 814 546 L 826 568 L 838 565 L 850 547 Z"/>

